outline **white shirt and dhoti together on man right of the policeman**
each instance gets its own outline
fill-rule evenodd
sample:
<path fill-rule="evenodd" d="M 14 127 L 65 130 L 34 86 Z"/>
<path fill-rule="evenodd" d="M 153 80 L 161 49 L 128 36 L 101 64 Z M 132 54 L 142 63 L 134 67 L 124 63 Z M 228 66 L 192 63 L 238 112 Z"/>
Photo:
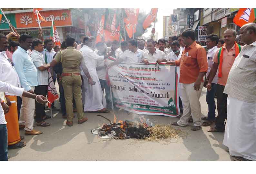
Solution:
<path fill-rule="evenodd" d="M 104 97 L 104 93 L 101 89 L 100 81 L 96 72 L 96 60 L 102 59 L 103 56 L 98 56 L 94 53 L 94 51 L 88 46 L 84 45 L 83 48 L 80 49 L 83 53 L 84 63 L 88 69 L 89 74 L 91 75 L 95 85 L 88 84 L 87 77 L 82 74 L 83 77 L 83 91 L 82 91 L 82 99 L 84 104 L 84 111 L 97 111 L 103 108 L 106 108 L 106 99 Z"/>

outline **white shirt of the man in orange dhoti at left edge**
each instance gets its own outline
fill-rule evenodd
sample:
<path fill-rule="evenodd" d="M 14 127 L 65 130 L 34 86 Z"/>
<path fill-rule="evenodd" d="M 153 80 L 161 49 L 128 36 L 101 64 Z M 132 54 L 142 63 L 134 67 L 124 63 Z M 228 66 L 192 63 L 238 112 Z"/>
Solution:
<path fill-rule="evenodd" d="M 21 87 L 19 76 L 12 66 L 11 62 L 8 61 L 5 51 L 0 52 L 0 80 L 6 83 L 10 83 L 15 87 Z M 6 95 L 15 95 L 6 92 Z"/>

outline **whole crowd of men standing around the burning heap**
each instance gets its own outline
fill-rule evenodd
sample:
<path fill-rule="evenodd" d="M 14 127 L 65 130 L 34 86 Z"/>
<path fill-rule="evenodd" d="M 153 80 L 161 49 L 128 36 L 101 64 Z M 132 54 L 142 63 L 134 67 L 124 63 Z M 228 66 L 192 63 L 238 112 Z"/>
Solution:
<path fill-rule="evenodd" d="M 19 35 L 12 28 L 14 32 L 7 36 L 0 34 L 0 91 L 5 92 L 6 98 L 6 104 L 1 100 L 3 109 L 0 109 L 0 160 L 8 160 L 7 148 L 26 145 L 21 141 L 24 137 L 19 129 L 24 129 L 26 135 L 42 134 L 34 129 L 34 111 L 37 126 L 50 126 L 45 122 L 50 117 L 45 113 L 47 108 L 40 104 L 46 102 L 49 70 L 54 83 L 57 79 L 61 103 L 60 110 L 54 103 L 52 108 L 67 118 L 66 125 L 73 126 L 74 111 L 78 124 L 87 121 L 84 112 L 109 112 L 112 99 L 106 72 L 122 62 L 176 65 L 181 114 L 177 116 L 179 121 L 172 125 L 188 126 L 188 122 L 193 122 L 191 130 L 197 131 L 214 124 L 208 132 L 224 132 L 223 144 L 233 160 L 256 160 L 255 23 L 241 28 L 239 40 L 232 29 L 225 30 L 224 39 L 216 34 L 208 35 L 206 49 L 196 41 L 191 29 L 168 40 L 131 39 L 120 46 L 118 41 L 95 43 L 94 37 L 81 35 L 79 45 L 68 37 L 59 47 L 54 46 L 52 39 L 42 41 L 41 29 L 39 37 L 33 38 Z M 12 36 L 19 43 L 12 41 L 8 46 Z M 108 60 L 110 56 L 114 62 Z M 203 87 L 207 88 L 208 115 L 201 118 L 199 99 Z"/>

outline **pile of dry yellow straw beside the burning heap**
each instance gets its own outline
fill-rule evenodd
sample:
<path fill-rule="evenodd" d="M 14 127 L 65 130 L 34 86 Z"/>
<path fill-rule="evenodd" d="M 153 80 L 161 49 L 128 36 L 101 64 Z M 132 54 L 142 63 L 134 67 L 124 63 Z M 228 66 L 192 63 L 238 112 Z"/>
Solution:
<path fill-rule="evenodd" d="M 186 133 L 181 129 L 175 129 L 170 125 L 155 125 L 153 127 L 148 128 L 150 132 L 150 137 L 145 137 L 146 140 L 149 141 L 158 141 L 163 140 L 169 143 L 172 143 L 171 139 L 182 138 L 182 136 L 186 136 Z"/>

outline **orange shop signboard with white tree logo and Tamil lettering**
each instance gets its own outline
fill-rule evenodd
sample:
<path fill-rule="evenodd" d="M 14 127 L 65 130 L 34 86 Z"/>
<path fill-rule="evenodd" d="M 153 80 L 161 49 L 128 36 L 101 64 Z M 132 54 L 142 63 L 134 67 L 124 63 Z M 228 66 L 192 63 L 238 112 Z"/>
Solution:
<path fill-rule="evenodd" d="M 51 27 L 53 17 L 57 27 L 72 26 L 72 17 L 70 10 L 40 11 L 40 14 L 46 22 L 40 20 L 41 27 Z M 38 28 L 38 20 L 34 17 L 33 12 L 16 13 L 16 25 L 18 29 Z"/>

